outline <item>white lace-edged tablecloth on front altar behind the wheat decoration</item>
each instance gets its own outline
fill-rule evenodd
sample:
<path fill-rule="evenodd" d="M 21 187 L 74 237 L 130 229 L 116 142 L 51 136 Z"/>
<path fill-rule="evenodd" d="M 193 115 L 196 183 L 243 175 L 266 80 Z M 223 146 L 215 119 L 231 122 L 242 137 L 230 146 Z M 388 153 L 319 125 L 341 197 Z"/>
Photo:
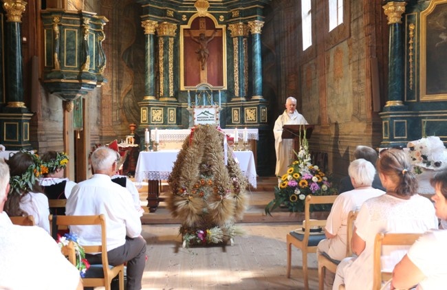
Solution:
<path fill-rule="evenodd" d="M 177 160 L 179 150 L 162 150 L 157 152 L 141 151 L 138 155 L 137 168 L 135 169 L 135 182 L 137 185 L 144 180 L 166 180 Z M 256 188 L 256 166 L 252 151 L 236 151 L 235 158 L 239 161 L 239 167 L 246 175 L 250 184 Z"/>

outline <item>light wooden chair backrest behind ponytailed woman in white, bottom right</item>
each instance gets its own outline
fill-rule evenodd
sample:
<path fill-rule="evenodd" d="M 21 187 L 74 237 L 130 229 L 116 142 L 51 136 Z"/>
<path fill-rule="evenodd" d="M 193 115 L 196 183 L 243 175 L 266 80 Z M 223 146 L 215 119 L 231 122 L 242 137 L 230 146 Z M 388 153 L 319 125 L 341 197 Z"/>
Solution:
<path fill-rule="evenodd" d="M 388 281 L 392 277 L 391 272 L 382 271 L 380 256 L 382 256 L 382 246 L 384 245 L 413 245 L 417 238 L 422 234 L 395 234 L 378 233 L 375 235 L 374 253 L 373 253 L 373 290 L 380 290 L 382 281 Z"/>

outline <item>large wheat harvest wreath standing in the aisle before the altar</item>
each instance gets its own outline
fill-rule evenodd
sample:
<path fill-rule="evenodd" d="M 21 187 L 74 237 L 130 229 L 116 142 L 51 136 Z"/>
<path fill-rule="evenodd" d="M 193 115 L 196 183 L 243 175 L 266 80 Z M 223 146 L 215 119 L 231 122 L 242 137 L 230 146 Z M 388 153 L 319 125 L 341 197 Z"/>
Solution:
<path fill-rule="evenodd" d="M 182 220 L 187 246 L 226 243 L 240 234 L 234 224 L 246 210 L 248 180 L 230 147 L 225 153 L 223 138 L 214 126 L 194 127 L 168 179 L 168 209 Z"/>

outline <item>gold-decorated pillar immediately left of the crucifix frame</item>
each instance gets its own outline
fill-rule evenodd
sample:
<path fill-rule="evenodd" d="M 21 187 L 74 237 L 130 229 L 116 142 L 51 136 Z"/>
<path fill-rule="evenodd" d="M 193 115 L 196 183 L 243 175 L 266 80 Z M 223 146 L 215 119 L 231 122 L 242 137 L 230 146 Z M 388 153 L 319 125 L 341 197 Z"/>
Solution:
<path fill-rule="evenodd" d="M 174 37 L 177 25 L 162 22 L 157 28 L 160 67 L 160 100 L 175 101 L 174 98 Z"/>

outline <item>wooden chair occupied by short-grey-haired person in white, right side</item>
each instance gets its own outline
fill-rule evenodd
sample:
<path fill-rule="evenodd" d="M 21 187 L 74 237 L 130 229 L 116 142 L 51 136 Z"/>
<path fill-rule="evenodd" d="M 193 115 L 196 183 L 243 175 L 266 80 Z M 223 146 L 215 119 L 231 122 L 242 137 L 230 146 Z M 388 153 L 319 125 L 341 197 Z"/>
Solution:
<path fill-rule="evenodd" d="M 348 214 L 348 221 L 346 227 L 347 230 L 346 257 L 352 256 L 351 237 L 353 233 L 354 221 L 356 221 L 357 219 L 357 214 L 358 211 L 356 210 L 351 210 Z M 324 290 L 325 272 L 329 270 L 332 273 L 335 273 L 340 261 L 331 259 L 329 258 L 329 256 L 320 253 L 317 253 L 317 260 L 318 260 L 318 289 Z"/>

